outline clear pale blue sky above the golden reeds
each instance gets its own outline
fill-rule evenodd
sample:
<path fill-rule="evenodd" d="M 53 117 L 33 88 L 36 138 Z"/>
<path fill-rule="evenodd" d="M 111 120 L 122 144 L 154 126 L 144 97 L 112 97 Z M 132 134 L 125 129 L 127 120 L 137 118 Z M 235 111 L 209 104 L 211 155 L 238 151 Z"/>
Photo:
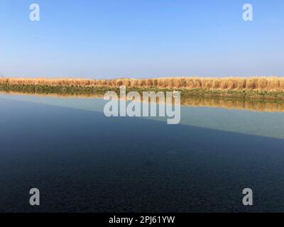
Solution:
<path fill-rule="evenodd" d="M 1 0 L 0 75 L 284 76 L 284 1 Z"/>

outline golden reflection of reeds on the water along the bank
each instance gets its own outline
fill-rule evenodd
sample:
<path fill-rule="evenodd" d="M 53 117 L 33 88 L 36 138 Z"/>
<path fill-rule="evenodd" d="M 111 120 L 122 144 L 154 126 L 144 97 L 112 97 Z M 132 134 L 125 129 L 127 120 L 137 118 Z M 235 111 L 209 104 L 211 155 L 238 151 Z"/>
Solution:
<path fill-rule="evenodd" d="M 61 98 L 100 98 L 104 97 L 104 94 L 67 94 L 67 93 L 51 93 L 51 94 L 37 94 L 37 93 L 22 93 L 22 92 L 0 92 L 3 94 L 13 95 L 33 95 L 33 96 L 51 96 Z M 150 100 L 149 100 L 150 101 Z M 156 100 L 158 102 L 158 99 Z M 194 107 L 214 107 L 223 109 L 244 109 L 249 111 L 258 112 L 284 112 L 283 102 L 267 102 L 267 101 L 246 101 L 237 99 L 210 99 L 204 97 L 182 97 L 180 101 L 182 106 L 194 106 Z"/>

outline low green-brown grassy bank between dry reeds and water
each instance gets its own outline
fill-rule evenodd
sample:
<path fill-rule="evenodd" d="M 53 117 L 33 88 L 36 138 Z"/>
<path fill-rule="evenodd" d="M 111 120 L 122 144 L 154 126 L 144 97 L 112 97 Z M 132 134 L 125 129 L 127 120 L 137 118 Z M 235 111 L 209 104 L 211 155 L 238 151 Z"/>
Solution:
<path fill-rule="evenodd" d="M 182 98 L 187 97 L 205 97 L 205 98 L 226 98 L 241 100 L 258 100 L 258 101 L 284 101 L 284 92 L 281 91 L 258 91 L 243 89 L 239 90 L 213 90 L 213 89 L 165 89 L 155 87 L 128 87 L 127 92 L 153 91 L 167 92 L 180 91 Z M 23 85 L 23 84 L 0 84 L 0 91 L 4 92 L 22 92 L 30 94 L 104 94 L 107 91 L 114 91 L 119 94 L 119 87 L 86 87 L 86 86 L 66 86 L 66 85 Z"/>

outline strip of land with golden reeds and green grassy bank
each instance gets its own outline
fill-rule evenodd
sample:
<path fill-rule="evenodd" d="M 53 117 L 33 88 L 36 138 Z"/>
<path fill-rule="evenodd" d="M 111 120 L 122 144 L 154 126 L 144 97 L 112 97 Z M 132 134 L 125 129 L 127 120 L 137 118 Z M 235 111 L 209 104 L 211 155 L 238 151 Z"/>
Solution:
<path fill-rule="evenodd" d="M 284 100 L 282 77 L 167 77 L 153 79 L 0 78 L 0 90 L 35 93 L 104 93 L 129 90 L 180 90 L 182 96 Z"/>

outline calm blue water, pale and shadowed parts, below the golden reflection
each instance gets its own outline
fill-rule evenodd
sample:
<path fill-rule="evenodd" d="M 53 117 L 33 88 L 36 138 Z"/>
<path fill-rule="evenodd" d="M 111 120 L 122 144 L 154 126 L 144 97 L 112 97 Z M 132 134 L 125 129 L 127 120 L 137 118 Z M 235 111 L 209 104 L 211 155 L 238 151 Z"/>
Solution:
<path fill-rule="evenodd" d="M 102 99 L 0 106 L 0 211 L 284 211 L 284 113 L 183 106 L 167 125 L 107 118 Z"/>

